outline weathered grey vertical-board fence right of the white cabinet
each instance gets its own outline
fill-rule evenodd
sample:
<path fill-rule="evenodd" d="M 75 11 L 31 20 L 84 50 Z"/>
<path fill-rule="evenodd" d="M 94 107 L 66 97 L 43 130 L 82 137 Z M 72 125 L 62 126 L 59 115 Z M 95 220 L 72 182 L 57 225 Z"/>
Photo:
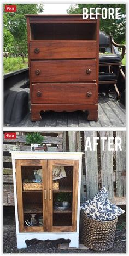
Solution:
<path fill-rule="evenodd" d="M 69 151 L 83 151 L 83 168 L 81 175 L 81 202 L 92 198 L 105 185 L 109 199 L 115 204 L 126 204 L 126 132 L 125 131 L 69 131 Z M 96 151 L 85 151 L 86 138 L 99 137 Z M 120 137 L 122 151 L 109 151 L 108 140 L 102 150 L 100 137 Z M 115 145 L 115 140 L 114 140 Z"/>

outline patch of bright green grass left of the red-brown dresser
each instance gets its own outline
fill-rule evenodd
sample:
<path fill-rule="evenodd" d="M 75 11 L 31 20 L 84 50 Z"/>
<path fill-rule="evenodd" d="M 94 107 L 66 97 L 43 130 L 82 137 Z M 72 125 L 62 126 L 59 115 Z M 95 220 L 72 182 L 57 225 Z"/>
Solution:
<path fill-rule="evenodd" d="M 22 62 L 22 57 L 4 57 L 4 74 L 13 72 L 19 69 L 28 67 L 28 58 L 25 58 L 25 63 Z"/>

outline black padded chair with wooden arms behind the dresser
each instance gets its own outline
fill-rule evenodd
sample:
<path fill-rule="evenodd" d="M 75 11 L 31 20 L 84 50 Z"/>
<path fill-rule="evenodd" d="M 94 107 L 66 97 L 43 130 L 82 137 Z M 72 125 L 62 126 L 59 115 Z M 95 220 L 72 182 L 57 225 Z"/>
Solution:
<path fill-rule="evenodd" d="M 122 48 L 120 54 L 118 48 Z M 125 74 L 122 71 L 122 59 L 125 55 L 125 46 L 117 44 L 113 36 L 107 36 L 104 32 L 99 33 L 99 84 L 113 84 L 117 93 L 117 99 L 120 99 L 120 92 L 117 87 L 117 81 L 121 72 L 122 79 L 125 80 Z"/>

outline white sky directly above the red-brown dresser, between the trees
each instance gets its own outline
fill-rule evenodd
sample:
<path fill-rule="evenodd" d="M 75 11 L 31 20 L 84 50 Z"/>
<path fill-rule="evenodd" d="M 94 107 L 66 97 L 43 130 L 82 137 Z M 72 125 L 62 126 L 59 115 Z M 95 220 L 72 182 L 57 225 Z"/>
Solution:
<path fill-rule="evenodd" d="M 66 3 L 48 3 L 44 4 L 43 14 L 67 14 L 66 9 L 71 4 Z"/>

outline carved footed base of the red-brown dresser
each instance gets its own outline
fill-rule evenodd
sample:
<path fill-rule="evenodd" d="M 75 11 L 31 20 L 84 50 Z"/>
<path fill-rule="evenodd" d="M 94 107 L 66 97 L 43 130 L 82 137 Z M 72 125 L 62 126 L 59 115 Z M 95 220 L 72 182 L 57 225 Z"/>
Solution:
<path fill-rule="evenodd" d="M 55 112 L 73 112 L 78 110 L 88 111 L 87 117 L 90 121 L 98 120 L 98 104 L 31 104 L 31 121 L 39 121 L 42 119 L 40 111 L 55 111 Z"/>

